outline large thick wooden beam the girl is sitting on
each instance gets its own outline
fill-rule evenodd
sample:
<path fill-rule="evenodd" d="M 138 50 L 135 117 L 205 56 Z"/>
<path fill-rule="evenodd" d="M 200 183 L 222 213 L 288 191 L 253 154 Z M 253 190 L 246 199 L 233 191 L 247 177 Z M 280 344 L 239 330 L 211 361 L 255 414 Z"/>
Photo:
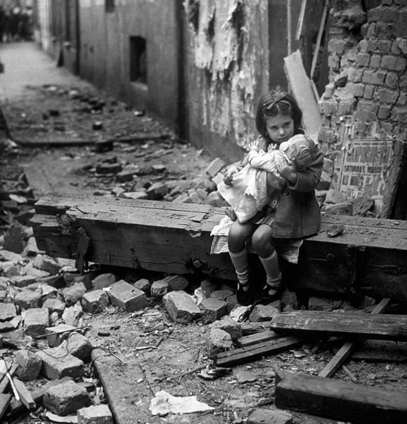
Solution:
<path fill-rule="evenodd" d="M 86 260 L 166 273 L 199 271 L 236 280 L 227 253 L 211 255 L 223 208 L 98 196 L 47 195 L 32 219 L 38 247 L 75 259 L 83 228 Z M 331 237 L 333 226 L 344 231 Z M 346 293 L 363 288 L 377 297 L 407 299 L 407 222 L 323 215 L 317 235 L 300 250 L 293 289 Z M 259 265 L 261 267 L 261 265 Z"/>

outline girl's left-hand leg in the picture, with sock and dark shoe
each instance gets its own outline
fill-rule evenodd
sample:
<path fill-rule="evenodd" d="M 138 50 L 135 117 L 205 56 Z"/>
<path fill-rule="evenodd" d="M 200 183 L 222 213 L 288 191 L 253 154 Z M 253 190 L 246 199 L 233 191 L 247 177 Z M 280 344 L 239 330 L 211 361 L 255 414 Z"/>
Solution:
<path fill-rule="evenodd" d="M 230 260 L 235 267 L 238 276 L 237 300 L 242 305 L 250 303 L 249 292 L 249 261 L 246 249 L 246 240 L 253 232 L 253 225 L 250 222 L 244 224 L 235 221 L 230 227 L 227 236 Z"/>

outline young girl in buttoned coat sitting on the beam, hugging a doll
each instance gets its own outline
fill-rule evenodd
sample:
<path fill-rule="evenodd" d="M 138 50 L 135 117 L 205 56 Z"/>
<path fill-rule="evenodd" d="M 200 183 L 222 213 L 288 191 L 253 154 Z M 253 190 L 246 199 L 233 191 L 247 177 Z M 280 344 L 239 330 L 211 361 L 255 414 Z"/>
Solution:
<path fill-rule="evenodd" d="M 256 112 L 256 127 L 261 137 L 258 149 L 267 152 L 270 145 L 280 146 L 293 135 L 303 134 L 300 128 L 302 111 L 295 99 L 281 91 L 268 92 L 260 97 Z M 263 264 L 267 280 L 264 295 L 270 300 L 281 292 L 281 272 L 278 249 L 286 249 L 319 228 L 320 212 L 315 198 L 315 186 L 321 177 L 323 154 L 316 147 L 314 158 L 305 169 L 298 169 L 296 161 L 277 161 L 281 188 L 275 188 L 276 176 L 268 172 L 264 181 L 266 206 L 246 222 L 235 220 L 228 232 L 227 246 L 238 276 L 238 302 L 243 305 L 253 300 L 246 241 L 251 239 L 254 251 Z M 234 176 L 248 164 L 246 157 L 239 167 L 229 168 L 223 177 L 226 185 L 233 184 Z"/>

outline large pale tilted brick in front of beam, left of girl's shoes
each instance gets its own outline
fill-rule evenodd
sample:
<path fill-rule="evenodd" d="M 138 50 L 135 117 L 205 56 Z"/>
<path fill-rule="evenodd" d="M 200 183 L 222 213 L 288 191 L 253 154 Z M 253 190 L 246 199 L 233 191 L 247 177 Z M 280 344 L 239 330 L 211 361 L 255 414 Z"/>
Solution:
<path fill-rule="evenodd" d="M 163 302 L 168 314 L 175 322 L 187 324 L 202 315 L 191 296 L 184 291 L 167 293 L 163 297 Z"/>

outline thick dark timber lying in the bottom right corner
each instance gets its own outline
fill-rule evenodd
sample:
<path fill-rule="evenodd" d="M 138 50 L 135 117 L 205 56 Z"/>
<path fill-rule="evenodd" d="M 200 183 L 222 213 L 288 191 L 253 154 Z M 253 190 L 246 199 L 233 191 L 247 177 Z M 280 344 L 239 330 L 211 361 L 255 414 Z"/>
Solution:
<path fill-rule="evenodd" d="M 275 404 L 336 421 L 360 424 L 407 422 L 407 393 L 336 379 L 276 371 Z"/>

